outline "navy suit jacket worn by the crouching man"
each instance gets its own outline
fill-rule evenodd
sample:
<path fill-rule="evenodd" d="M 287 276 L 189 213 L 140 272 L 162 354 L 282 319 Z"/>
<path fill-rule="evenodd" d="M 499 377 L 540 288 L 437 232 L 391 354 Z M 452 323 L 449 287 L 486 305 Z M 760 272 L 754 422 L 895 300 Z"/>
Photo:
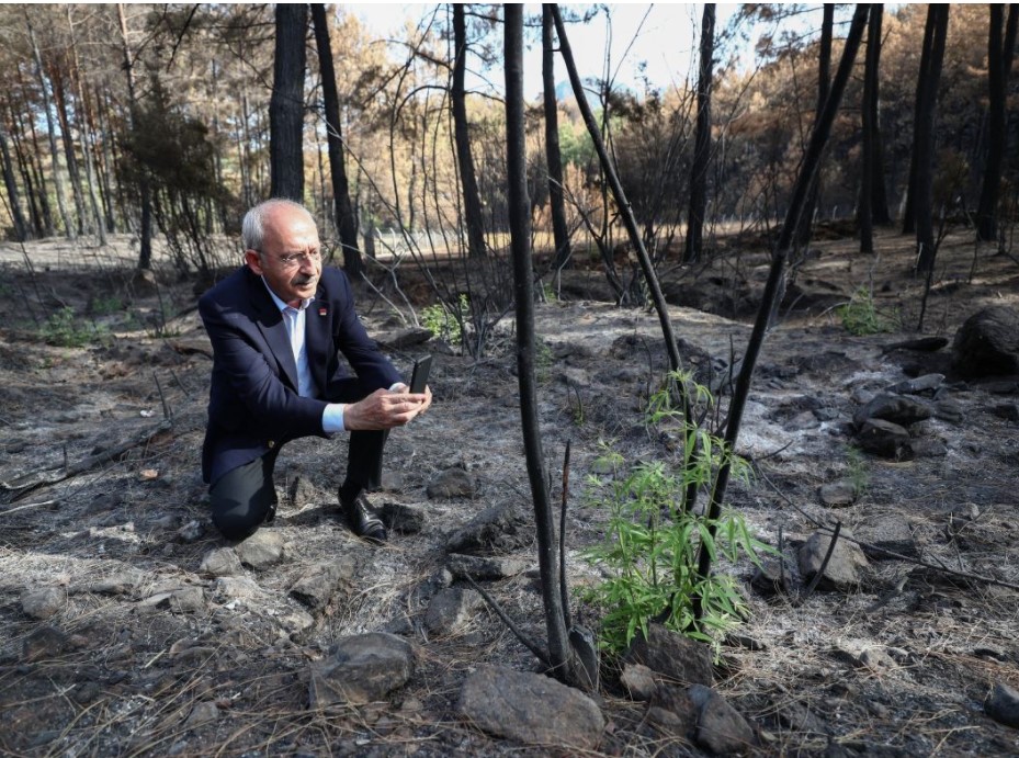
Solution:
<path fill-rule="evenodd" d="M 213 346 L 202 448 L 206 483 L 287 440 L 325 437 L 327 401 L 355 401 L 403 382 L 358 319 L 350 282 L 339 269 L 322 269 L 315 299 L 305 312 L 305 348 L 316 397 L 297 394 L 297 366 L 283 316 L 261 276 L 248 267 L 202 295 L 199 313 Z"/>

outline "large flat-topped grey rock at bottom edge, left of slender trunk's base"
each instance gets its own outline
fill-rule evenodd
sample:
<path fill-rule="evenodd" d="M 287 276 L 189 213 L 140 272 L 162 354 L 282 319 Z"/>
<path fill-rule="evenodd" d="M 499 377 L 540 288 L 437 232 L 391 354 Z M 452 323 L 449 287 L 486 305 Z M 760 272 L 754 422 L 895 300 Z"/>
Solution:
<path fill-rule="evenodd" d="M 590 698 L 539 674 L 482 668 L 460 692 L 460 713 L 489 734 L 525 745 L 592 750 L 605 721 Z"/>

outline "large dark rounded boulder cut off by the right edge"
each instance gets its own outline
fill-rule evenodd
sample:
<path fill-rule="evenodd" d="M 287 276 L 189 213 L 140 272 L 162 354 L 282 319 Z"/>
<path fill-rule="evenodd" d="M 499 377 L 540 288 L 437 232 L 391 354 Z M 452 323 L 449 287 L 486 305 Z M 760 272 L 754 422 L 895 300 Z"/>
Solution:
<path fill-rule="evenodd" d="M 955 332 L 952 361 L 967 380 L 1019 374 L 1019 312 L 993 305 L 970 316 Z"/>

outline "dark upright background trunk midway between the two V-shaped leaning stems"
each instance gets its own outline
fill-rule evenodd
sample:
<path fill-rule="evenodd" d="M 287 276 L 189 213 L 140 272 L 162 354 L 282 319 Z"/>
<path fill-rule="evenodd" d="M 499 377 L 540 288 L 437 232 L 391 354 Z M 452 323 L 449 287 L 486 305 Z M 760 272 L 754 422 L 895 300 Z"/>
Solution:
<path fill-rule="evenodd" d="M 703 253 L 704 213 L 707 208 L 707 161 L 711 158 L 711 80 L 715 50 L 715 3 L 704 3 L 701 15 L 701 65 L 697 83 L 697 135 L 690 168 L 690 213 L 683 261 L 700 260 Z"/>

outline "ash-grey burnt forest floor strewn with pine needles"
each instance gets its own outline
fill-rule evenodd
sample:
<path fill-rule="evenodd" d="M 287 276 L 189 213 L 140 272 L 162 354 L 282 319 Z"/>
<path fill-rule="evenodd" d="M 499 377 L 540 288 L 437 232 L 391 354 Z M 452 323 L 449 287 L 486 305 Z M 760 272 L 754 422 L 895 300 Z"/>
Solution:
<path fill-rule="evenodd" d="M 951 339 L 978 308 L 1019 305 L 1019 264 L 975 249 L 971 234 L 953 231 L 939 252 L 925 336 Z M 737 254 L 747 246 L 731 240 L 711 267 L 664 269 L 664 290 L 680 304 L 673 328 L 694 367 L 720 369 L 743 353 L 767 273 L 763 253 Z M 738 444 L 755 476 L 733 484 L 728 500 L 760 539 L 778 544 L 781 530 L 793 596 L 762 597 L 749 586 L 752 566 L 729 568 L 752 613 L 734 636 L 741 644 L 723 645 L 715 687 L 761 731 L 761 755 L 1016 755 L 1019 733 L 992 721 L 983 703 L 995 682 L 1019 687 L 1019 593 L 973 577 L 1019 584 L 1019 398 L 1015 383 L 1010 394 L 1007 384 L 955 383 L 959 418 L 916 432 L 935 452 L 906 461 L 854 452 L 860 398 L 943 365 L 884 350 L 918 336 L 922 283 L 909 274 L 908 238 L 886 231 L 878 247 L 880 256 L 862 256 L 850 238 L 815 240 L 765 343 Z M 244 591 L 224 593 L 200 569 L 224 542 L 200 475 L 212 361 L 194 285 L 161 273 L 146 287 L 112 256 L 64 241 L 32 244 L 27 256 L 32 272 L 11 246 L 0 258 L 0 482 L 59 480 L 0 493 L 0 754 L 570 753 L 502 742 L 457 715 L 460 686 L 476 667 L 535 669 L 487 608 L 445 636 L 422 630 L 429 592 L 449 581 L 449 538 L 492 506 L 530 512 L 511 319 L 482 360 L 434 340 L 395 349 L 406 324 L 362 290 L 369 330 L 399 369 L 437 354 L 433 408 L 393 432 L 385 488 L 374 496 L 420 509 L 423 529 L 383 547 L 354 539 L 336 512 L 346 442 L 301 440 L 276 468 L 283 502 L 270 529 L 283 536 L 284 558 L 245 569 Z M 873 290 L 891 331 L 842 327 L 836 307 L 861 286 Z M 597 271 L 568 272 L 559 297 L 536 313 L 554 480 L 573 443 L 575 585 L 596 576 L 578 553 L 600 538 L 603 514 L 586 505 L 585 482 L 601 444 L 627 462 L 676 454 L 644 422 L 648 388 L 666 365 L 657 317 L 599 301 L 604 290 Z M 429 499 L 427 486 L 451 468 L 472 475 L 475 495 Z M 860 497 L 822 505 L 819 488 L 847 478 Z M 865 541 L 888 519 L 905 522 L 917 556 L 972 577 L 871 556 L 851 590 L 794 602 L 795 548 L 819 524 L 838 520 Z M 338 554 L 355 561 L 352 586 L 308 610 L 291 588 Z M 533 542 L 510 557 L 531 569 L 488 589 L 544 638 Z M 26 613 L 30 590 L 55 590 L 41 613 L 52 615 Z M 597 624 L 591 609 L 580 615 Z M 310 710 L 312 661 L 338 637 L 371 631 L 410 642 L 408 685 L 386 702 Z M 623 695 L 611 670 L 600 702 L 609 726 L 598 755 L 700 755 L 646 723 L 645 706 Z M 790 712 L 812 713 L 816 726 L 791 723 Z"/>

